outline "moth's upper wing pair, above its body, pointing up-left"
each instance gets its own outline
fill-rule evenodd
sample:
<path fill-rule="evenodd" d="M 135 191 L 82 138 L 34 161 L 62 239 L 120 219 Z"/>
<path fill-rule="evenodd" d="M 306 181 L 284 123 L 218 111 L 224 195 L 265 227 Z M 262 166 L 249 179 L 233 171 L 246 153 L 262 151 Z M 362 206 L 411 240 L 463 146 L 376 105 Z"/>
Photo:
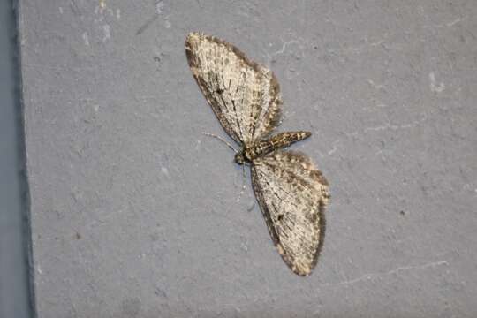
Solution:
<path fill-rule="evenodd" d="M 225 131 L 248 144 L 268 134 L 280 117 L 280 88 L 269 69 L 213 36 L 191 33 L 186 55 L 193 77 Z"/>

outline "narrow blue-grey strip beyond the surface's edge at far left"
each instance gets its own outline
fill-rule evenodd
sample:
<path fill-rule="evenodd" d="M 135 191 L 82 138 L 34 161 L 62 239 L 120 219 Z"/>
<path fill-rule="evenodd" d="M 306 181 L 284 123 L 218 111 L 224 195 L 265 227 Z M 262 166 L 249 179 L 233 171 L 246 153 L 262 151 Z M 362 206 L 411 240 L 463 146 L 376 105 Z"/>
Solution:
<path fill-rule="evenodd" d="M 0 317 L 28 318 L 27 170 L 20 103 L 19 50 L 11 1 L 0 1 Z M 31 256 L 31 254 L 30 254 Z"/>

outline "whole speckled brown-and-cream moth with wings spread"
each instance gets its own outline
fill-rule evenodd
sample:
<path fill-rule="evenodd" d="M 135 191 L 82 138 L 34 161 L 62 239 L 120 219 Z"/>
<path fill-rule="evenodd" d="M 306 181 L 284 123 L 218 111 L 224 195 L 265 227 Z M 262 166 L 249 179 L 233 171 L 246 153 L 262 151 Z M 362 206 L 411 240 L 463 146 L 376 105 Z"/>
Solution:
<path fill-rule="evenodd" d="M 307 155 L 283 148 L 311 133 L 271 135 L 282 108 L 276 77 L 230 43 L 191 33 L 186 56 L 220 124 L 241 148 L 235 162 L 250 166 L 255 197 L 278 253 L 294 273 L 309 275 L 323 244 L 329 186 Z"/>

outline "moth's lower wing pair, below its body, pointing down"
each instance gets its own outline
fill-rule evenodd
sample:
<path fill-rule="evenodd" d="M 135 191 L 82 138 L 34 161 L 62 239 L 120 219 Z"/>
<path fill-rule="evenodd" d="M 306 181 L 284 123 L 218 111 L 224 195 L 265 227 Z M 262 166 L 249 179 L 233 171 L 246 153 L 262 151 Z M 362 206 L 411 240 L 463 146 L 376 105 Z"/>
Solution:
<path fill-rule="evenodd" d="M 323 243 L 328 182 L 306 155 L 278 151 L 254 161 L 252 183 L 278 253 L 307 276 Z"/>

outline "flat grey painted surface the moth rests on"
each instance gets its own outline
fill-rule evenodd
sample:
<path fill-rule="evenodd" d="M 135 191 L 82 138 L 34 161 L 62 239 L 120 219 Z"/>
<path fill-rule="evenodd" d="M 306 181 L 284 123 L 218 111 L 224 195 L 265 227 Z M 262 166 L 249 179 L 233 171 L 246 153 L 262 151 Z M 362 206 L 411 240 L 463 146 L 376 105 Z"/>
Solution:
<path fill-rule="evenodd" d="M 39 317 L 477 316 L 475 1 L 20 3 Z M 201 134 L 190 31 L 268 64 L 282 129 L 314 133 L 312 276 Z"/>

